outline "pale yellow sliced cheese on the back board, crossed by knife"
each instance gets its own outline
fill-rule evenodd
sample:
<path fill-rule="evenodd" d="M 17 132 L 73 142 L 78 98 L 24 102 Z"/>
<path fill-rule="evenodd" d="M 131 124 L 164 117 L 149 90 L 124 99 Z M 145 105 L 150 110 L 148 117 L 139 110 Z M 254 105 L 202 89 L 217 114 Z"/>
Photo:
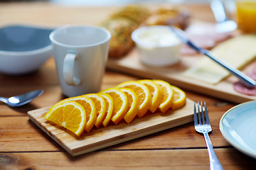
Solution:
<path fill-rule="evenodd" d="M 256 57 L 256 35 L 239 35 L 231 38 L 214 47 L 211 53 L 231 66 L 240 69 Z M 205 81 L 209 84 L 218 84 L 222 79 L 228 77 L 230 72 L 205 56 L 183 74 L 186 77 Z"/>

